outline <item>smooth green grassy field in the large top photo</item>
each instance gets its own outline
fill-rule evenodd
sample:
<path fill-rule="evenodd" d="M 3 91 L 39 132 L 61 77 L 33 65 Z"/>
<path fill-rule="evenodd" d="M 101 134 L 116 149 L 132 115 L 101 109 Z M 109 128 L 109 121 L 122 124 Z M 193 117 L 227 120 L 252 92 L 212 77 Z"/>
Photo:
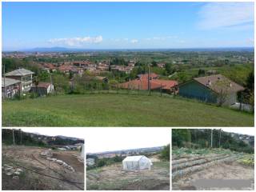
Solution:
<path fill-rule="evenodd" d="M 254 126 L 254 115 L 179 98 L 84 94 L 2 102 L 2 126 Z"/>

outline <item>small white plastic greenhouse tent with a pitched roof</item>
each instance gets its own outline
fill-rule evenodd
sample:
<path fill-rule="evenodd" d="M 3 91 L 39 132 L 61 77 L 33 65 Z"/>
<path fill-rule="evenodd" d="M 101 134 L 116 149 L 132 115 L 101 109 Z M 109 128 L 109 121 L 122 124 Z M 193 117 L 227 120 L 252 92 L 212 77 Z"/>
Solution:
<path fill-rule="evenodd" d="M 151 170 L 152 162 L 143 155 L 129 156 L 122 161 L 123 170 Z"/>

